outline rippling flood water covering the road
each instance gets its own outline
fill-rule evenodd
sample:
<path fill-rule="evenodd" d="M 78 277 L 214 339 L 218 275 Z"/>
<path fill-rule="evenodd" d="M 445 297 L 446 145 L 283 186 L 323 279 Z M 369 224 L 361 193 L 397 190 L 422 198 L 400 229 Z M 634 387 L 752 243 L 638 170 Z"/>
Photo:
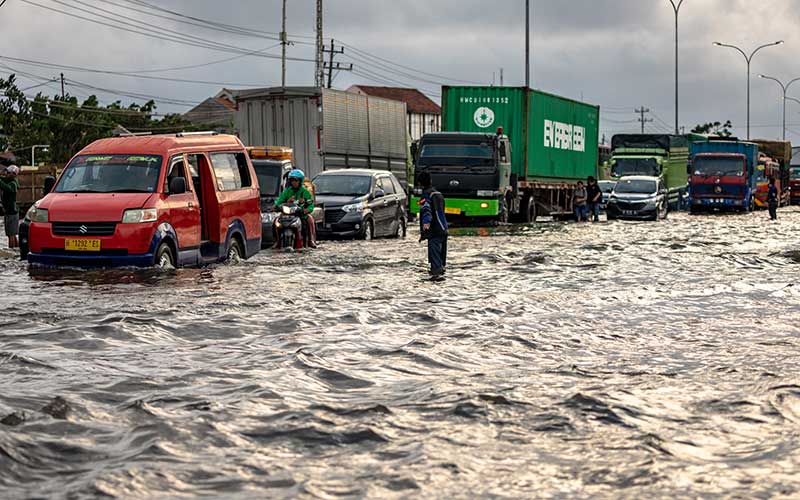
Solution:
<path fill-rule="evenodd" d="M 0 497 L 798 498 L 800 211 L 0 258 Z"/>

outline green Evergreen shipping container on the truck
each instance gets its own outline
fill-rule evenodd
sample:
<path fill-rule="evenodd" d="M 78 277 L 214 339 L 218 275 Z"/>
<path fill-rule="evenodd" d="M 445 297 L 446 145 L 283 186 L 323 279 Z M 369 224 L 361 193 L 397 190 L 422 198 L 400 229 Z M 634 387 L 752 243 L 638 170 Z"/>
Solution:
<path fill-rule="evenodd" d="M 519 180 L 597 176 L 598 106 L 524 87 L 443 87 L 442 116 L 447 132 L 495 133 L 503 127 Z"/>

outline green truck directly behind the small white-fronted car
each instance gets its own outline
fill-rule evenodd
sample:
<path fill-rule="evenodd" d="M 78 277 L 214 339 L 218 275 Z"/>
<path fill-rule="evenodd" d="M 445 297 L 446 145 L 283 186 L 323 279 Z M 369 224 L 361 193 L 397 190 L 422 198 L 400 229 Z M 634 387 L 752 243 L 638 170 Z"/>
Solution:
<path fill-rule="evenodd" d="M 706 140 L 700 134 L 617 134 L 611 138 L 611 158 L 603 165 L 603 178 L 659 177 L 667 187 L 669 209 L 679 210 L 688 195 L 689 147 Z"/>

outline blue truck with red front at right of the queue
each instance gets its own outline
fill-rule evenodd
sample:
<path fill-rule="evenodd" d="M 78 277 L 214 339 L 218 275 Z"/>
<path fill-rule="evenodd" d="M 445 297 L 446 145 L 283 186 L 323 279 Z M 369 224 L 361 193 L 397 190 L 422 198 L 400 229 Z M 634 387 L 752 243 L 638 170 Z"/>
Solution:
<path fill-rule="evenodd" d="M 752 211 L 758 188 L 759 147 L 735 138 L 693 142 L 689 165 L 689 211 Z"/>

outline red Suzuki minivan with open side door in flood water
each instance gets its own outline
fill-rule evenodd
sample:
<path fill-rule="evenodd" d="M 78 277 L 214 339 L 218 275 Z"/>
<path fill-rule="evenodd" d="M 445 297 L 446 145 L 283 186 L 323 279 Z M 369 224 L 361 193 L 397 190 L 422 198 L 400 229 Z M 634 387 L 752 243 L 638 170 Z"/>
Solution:
<path fill-rule="evenodd" d="M 213 132 L 95 141 L 26 219 L 33 264 L 194 266 L 261 248 L 250 158 L 237 137 Z"/>

